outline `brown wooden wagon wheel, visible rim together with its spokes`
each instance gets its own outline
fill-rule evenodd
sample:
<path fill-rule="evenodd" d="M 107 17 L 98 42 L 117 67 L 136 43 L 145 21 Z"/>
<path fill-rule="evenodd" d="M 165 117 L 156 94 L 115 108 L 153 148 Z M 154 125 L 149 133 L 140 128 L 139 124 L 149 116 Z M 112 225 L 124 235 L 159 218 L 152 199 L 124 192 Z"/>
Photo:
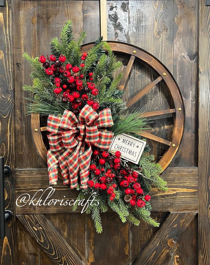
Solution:
<path fill-rule="evenodd" d="M 157 85 L 159 82 L 164 82 L 169 92 L 171 101 L 173 102 L 173 105 L 174 105 L 173 108 L 163 109 L 163 110 L 158 110 L 158 111 L 144 112 L 143 115 L 144 117 L 154 117 L 158 115 L 165 115 L 165 114 L 173 113 L 173 132 L 172 132 L 171 140 L 170 141 L 165 140 L 161 137 L 151 134 L 149 131 L 143 131 L 140 134 L 144 138 L 148 138 L 152 141 L 156 141 L 156 142 L 159 142 L 159 143 L 162 143 L 168 146 L 167 150 L 165 151 L 165 153 L 163 154 L 163 156 L 160 158 L 158 162 L 163 168 L 163 170 L 165 170 L 167 166 L 173 160 L 179 148 L 179 145 L 181 143 L 181 138 L 183 135 L 183 130 L 184 130 L 184 106 L 183 106 L 183 101 L 182 101 L 181 94 L 179 91 L 179 87 L 174 81 L 169 70 L 150 53 L 136 46 L 126 44 L 126 43 L 119 43 L 119 42 L 108 42 L 108 43 L 112 51 L 117 52 L 117 53 L 127 54 L 128 56 L 130 56 L 128 65 L 126 66 L 126 69 L 124 70 L 123 78 L 119 84 L 120 90 L 124 89 L 129 73 L 132 69 L 132 65 L 136 58 L 146 63 L 150 68 L 152 68 L 158 74 L 158 78 L 153 80 L 149 85 L 147 85 L 144 89 L 142 89 L 139 93 L 137 93 L 134 97 L 132 97 L 131 99 L 127 101 L 128 108 L 134 105 L 134 103 L 136 103 L 137 101 L 140 101 L 140 99 L 148 91 L 153 89 L 153 87 Z M 82 52 L 88 52 L 93 45 L 94 45 L 93 43 L 83 45 Z M 42 158 L 45 164 L 47 164 L 47 156 L 46 156 L 47 148 L 43 142 L 43 137 L 42 137 L 42 131 L 45 131 L 46 127 L 40 126 L 39 114 L 31 115 L 31 128 L 32 128 L 33 140 L 37 148 L 37 151 L 39 153 L 39 156 Z"/>

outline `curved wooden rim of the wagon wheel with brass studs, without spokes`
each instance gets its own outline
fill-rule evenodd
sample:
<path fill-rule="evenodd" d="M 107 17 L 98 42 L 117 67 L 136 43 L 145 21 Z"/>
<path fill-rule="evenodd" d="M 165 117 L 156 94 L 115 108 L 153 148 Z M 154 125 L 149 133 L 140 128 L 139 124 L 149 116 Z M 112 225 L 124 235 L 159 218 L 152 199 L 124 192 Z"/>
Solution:
<path fill-rule="evenodd" d="M 152 69 L 154 69 L 159 74 L 158 78 L 164 81 L 169 91 L 169 95 L 171 96 L 171 99 L 174 103 L 175 111 L 173 112 L 175 112 L 175 117 L 174 117 L 173 132 L 171 137 L 172 140 L 171 142 L 166 141 L 168 142 L 167 144 L 169 145 L 169 148 L 165 151 L 161 159 L 158 161 L 158 163 L 161 165 L 164 171 L 167 168 L 167 166 L 169 166 L 175 154 L 177 153 L 184 131 L 184 105 L 181 93 L 179 91 L 179 87 L 175 82 L 175 80 L 173 79 L 173 76 L 171 75 L 169 70 L 158 59 L 156 59 L 153 55 L 151 55 L 147 51 L 144 51 L 143 49 L 140 49 L 134 45 L 126 43 L 113 42 L 113 41 L 108 41 L 108 43 L 112 51 L 130 54 L 131 58 L 137 57 L 141 61 L 152 67 Z M 88 52 L 93 45 L 94 43 L 88 43 L 83 45 L 82 52 Z M 134 61 L 134 59 L 132 61 Z M 41 157 L 41 159 L 47 165 L 47 148 L 45 147 L 41 135 L 39 114 L 31 115 L 31 129 L 37 152 Z M 146 137 L 145 134 L 144 136 Z"/>

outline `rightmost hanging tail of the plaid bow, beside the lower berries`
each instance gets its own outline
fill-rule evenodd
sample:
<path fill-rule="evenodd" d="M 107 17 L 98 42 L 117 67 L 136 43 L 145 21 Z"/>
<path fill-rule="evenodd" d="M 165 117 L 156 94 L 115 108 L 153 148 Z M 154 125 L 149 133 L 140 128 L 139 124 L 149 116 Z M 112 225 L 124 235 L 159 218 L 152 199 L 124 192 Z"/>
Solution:
<path fill-rule="evenodd" d="M 81 181 L 81 189 L 88 188 L 88 176 L 89 176 L 89 168 L 90 168 L 90 161 L 92 155 L 91 146 L 84 152 L 84 145 L 80 149 L 80 156 L 78 158 L 79 170 L 80 170 L 80 181 Z"/>

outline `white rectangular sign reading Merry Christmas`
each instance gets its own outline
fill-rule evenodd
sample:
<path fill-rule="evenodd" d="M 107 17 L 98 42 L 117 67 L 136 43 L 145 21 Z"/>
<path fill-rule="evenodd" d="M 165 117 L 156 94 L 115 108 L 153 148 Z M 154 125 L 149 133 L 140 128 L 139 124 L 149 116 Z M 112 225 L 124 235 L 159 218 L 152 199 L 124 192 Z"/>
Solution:
<path fill-rule="evenodd" d="M 113 138 L 109 150 L 119 150 L 126 160 L 138 164 L 145 146 L 146 142 L 138 138 L 128 134 L 120 134 Z"/>

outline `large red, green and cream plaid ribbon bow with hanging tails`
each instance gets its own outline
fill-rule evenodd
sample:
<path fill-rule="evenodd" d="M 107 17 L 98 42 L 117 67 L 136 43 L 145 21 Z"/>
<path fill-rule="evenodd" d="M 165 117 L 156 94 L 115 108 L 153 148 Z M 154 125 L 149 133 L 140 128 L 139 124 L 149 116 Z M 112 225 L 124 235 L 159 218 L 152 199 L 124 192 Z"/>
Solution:
<path fill-rule="evenodd" d="M 92 155 L 91 145 L 109 149 L 114 133 L 105 129 L 113 126 L 110 109 L 98 113 L 85 105 L 79 114 L 79 120 L 72 111 L 65 110 L 60 118 L 49 115 L 47 130 L 50 149 L 47 163 L 50 184 L 56 184 L 60 167 L 63 183 L 70 188 L 77 186 L 80 173 L 80 188 L 88 187 L 88 169 Z"/>

